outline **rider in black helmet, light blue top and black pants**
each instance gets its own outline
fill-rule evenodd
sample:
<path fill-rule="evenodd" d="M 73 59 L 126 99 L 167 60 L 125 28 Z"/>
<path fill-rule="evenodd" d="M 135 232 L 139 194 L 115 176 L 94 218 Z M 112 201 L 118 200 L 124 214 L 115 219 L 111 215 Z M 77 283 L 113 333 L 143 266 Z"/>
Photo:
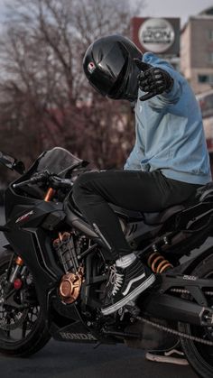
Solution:
<path fill-rule="evenodd" d="M 210 180 L 208 152 L 197 101 L 181 75 L 120 35 L 88 47 L 83 67 L 103 96 L 136 101 L 134 149 L 125 171 L 87 172 L 73 198 L 112 257 L 103 315 L 124 307 L 155 277 L 125 240 L 108 203 L 137 211 L 179 204 Z"/>

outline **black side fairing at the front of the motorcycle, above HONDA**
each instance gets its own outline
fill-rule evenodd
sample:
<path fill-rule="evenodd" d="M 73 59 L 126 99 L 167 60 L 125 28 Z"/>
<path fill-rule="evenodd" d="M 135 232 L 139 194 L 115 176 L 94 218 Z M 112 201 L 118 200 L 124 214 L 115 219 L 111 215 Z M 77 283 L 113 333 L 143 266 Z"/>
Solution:
<path fill-rule="evenodd" d="M 63 274 L 56 263 L 49 230 L 59 226 L 65 214 L 61 204 L 53 202 L 39 201 L 37 206 L 28 208 L 32 215 L 19 222 L 17 219 L 26 213 L 26 208 L 24 213 L 22 207 L 17 206 L 16 211 L 14 208 L 14 217 L 5 225 L 10 230 L 5 233 L 5 237 L 13 247 L 14 253 L 22 257 L 32 272 L 38 299 L 44 313 L 47 314 L 50 292 L 57 286 Z M 57 224 L 54 214 L 57 215 Z"/>

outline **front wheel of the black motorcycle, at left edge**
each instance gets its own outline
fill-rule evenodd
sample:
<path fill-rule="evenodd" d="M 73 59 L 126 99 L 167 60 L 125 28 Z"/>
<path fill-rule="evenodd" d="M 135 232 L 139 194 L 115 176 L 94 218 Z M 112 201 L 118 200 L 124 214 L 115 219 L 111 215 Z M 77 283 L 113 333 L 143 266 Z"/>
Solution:
<path fill-rule="evenodd" d="M 36 298 L 32 274 L 24 268 L 20 288 L 7 292 L 12 253 L 0 253 L 0 353 L 25 357 L 38 352 L 50 334 Z M 12 265 L 12 273 L 13 273 Z"/>

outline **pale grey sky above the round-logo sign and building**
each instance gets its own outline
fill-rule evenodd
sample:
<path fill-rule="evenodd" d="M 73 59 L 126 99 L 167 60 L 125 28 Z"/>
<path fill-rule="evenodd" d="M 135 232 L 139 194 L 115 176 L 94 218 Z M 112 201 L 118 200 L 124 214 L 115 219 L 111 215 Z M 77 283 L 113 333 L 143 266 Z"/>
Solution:
<path fill-rule="evenodd" d="M 213 0 L 145 0 L 145 4 L 143 16 L 181 17 L 183 26 L 190 15 L 199 14 L 204 9 L 213 7 Z"/>

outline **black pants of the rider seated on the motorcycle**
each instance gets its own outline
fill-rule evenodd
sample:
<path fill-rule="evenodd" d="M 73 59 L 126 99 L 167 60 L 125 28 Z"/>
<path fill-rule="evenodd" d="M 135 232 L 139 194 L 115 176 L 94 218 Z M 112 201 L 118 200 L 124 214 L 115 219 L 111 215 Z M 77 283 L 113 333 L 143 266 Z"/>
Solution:
<path fill-rule="evenodd" d="M 132 251 L 108 202 L 130 210 L 155 212 L 181 204 L 198 187 L 167 179 L 161 171 L 91 171 L 75 181 L 73 199 L 88 223 L 101 233 L 116 260 Z"/>

